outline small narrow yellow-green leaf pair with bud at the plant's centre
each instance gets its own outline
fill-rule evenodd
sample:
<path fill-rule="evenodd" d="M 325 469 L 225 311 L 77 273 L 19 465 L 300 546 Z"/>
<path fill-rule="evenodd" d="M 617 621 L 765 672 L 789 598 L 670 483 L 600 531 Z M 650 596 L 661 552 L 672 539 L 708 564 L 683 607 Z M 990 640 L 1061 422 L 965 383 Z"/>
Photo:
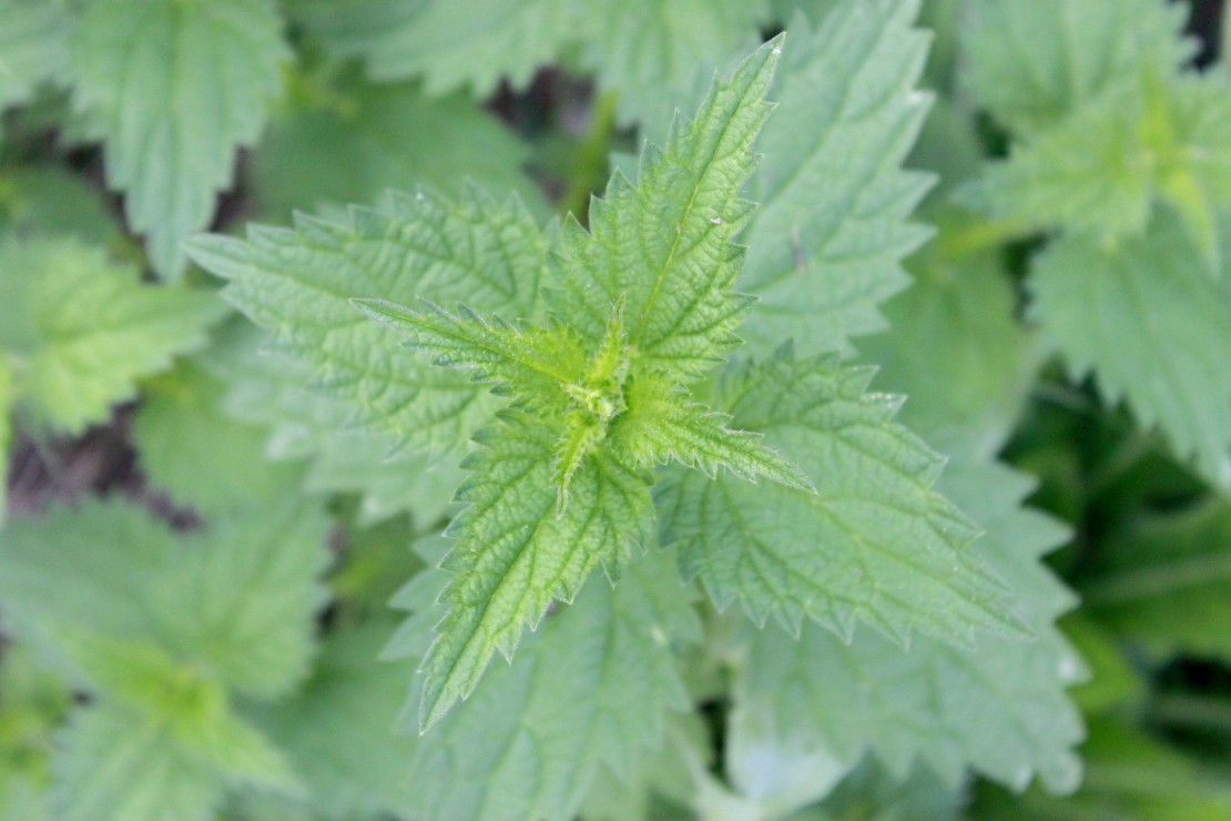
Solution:
<path fill-rule="evenodd" d="M 489 322 L 464 306 L 452 314 L 428 302 L 421 311 L 383 299 L 352 302 L 405 334 L 410 350 L 494 383 L 495 393 L 511 396 L 515 407 L 556 435 L 551 485 L 558 517 L 567 507 L 575 474 L 598 449 L 630 470 L 673 460 L 712 475 L 726 468 L 746 479 L 816 492 L 808 475 L 766 447 L 760 435 L 728 428 L 725 415 L 692 401 L 684 385 L 640 362 L 628 342 L 623 299 L 592 350 L 559 322 L 518 327 Z"/>

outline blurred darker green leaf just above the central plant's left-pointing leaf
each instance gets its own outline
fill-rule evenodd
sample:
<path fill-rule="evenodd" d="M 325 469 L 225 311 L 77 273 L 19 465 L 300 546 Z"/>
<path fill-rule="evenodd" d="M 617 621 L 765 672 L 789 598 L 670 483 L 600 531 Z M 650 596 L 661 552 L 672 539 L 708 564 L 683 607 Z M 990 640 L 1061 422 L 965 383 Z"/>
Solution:
<path fill-rule="evenodd" d="M 431 100 L 405 82 L 299 82 L 305 87 L 252 154 L 252 196 L 262 218 L 286 219 L 323 202 L 373 203 L 390 188 L 422 186 L 455 198 L 464 180 L 501 196 L 516 191 L 545 214 L 538 187 L 522 171 L 528 146 L 474 101 Z"/>

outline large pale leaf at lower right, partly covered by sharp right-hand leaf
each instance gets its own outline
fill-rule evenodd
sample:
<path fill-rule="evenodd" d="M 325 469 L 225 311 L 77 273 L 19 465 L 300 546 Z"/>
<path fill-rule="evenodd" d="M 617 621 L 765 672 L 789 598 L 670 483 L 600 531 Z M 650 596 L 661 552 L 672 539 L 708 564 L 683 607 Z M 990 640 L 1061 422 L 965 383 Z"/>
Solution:
<path fill-rule="evenodd" d="M 764 747 L 761 759 L 785 748 L 849 767 L 873 751 L 899 778 L 922 758 L 950 784 L 969 767 L 1014 789 L 1035 774 L 1051 790 L 1077 785 L 1082 727 L 1064 691 L 1081 662 L 1053 627 L 1072 597 L 1039 564 L 1064 531 L 1018 508 L 1030 483 L 1006 468 L 952 467 L 943 487 L 987 528 L 981 558 L 1038 638 L 979 636 L 969 649 L 920 638 L 905 650 L 864 630 L 851 644 L 814 625 L 798 641 L 753 631 L 735 684 L 731 761 L 756 761 Z"/>

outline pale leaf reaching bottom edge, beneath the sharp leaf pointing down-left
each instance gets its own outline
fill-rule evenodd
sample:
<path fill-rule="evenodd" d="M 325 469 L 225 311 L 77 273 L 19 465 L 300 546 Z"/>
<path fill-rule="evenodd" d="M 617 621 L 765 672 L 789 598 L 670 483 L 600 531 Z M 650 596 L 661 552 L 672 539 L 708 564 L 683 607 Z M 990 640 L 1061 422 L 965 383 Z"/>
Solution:
<path fill-rule="evenodd" d="M 401 604 L 423 608 L 438 583 L 420 576 Z M 423 615 L 430 611 L 412 617 L 390 651 L 421 650 Z M 687 704 L 671 647 L 698 633 L 665 554 L 639 556 L 614 590 L 592 579 L 544 619 L 517 663 L 497 665 L 421 740 L 411 815 L 571 816 L 599 764 L 628 773 L 661 743 L 667 711 Z"/>

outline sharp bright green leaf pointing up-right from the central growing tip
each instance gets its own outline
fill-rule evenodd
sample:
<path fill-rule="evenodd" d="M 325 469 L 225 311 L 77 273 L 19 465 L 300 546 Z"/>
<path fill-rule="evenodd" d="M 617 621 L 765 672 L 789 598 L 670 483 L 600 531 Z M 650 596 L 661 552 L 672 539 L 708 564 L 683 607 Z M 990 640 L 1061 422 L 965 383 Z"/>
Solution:
<path fill-rule="evenodd" d="M 654 368 L 697 377 L 737 343 L 747 297 L 730 290 L 744 261 L 732 242 L 751 203 L 739 190 L 782 38 L 761 47 L 710 90 L 693 121 L 677 119 L 666 148 L 648 146 L 634 186 L 619 171 L 590 208 L 590 230 L 565 225 L 553 306 L 597 342 L 623 303 L 630 346 Z"/>

